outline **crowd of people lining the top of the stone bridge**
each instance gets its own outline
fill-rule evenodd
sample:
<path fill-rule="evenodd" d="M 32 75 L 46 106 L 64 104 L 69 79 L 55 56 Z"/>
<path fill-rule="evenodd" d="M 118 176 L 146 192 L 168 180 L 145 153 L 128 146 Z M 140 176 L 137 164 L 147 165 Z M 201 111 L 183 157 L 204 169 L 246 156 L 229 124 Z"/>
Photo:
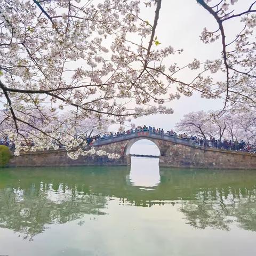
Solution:
<path fill-rule="evenodd" d="M 175 131 L 170 130 L 164 132 L 164 129 L 156 128 L 155 126 L 137 126 L 133 129 L 129 129 L 127 131 L 118 131 L 116 133 L 108 132 L 104 134 L 98 134 L 94 136 L 90 136 L 87 138 L 83 138 L 86 141 L 86 145 L 91 146 L 94 144 L 97 140 L 104 140 L 104 139 L 111 139 L 116 138 L 119 136 L 129 135 L 132 133 L 138 133 L 138 132 L 149 132 L 153 134 L 159 134 L 161 136 L 167 135 L 170 137 L 175 137 L 177 139 L 185 139 L 185 140 L 191 140 L 194 142 L 194 145 L 201 146 L 201 147 L 212 147 L 212 148 L 218 148 L 218 149 L 226 149 L 226 150 L 235 150 L 235 151 L 247 151 L 250 153 L 256 153 L 256 145 L 253 145 L 249 142 L 245 142 L 243 140 L 238 141 L 237 139 L 234 140 L 216 140 L 215 138 L 212 138 L 211 140 L 207 140 L 206 138 L 198 138 L 196 136 L 188 136 L 186 133 L 177 134 Z M 14 143 L 9 141 L 8 138 L 6 139 L 0 139 L 0 145 L 5 145 L 9 147 L 11 150 L 15 148 Z"/>

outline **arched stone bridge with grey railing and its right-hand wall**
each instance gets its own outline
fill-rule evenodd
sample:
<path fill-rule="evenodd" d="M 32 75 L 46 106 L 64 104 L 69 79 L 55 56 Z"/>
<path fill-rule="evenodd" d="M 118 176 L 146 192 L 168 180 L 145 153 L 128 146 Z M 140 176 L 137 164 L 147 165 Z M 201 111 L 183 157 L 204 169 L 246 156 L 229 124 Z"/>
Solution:
<path fill-rule="evenodd" d="M 97 140 L 93 146 L 121 155 L 123 164 L 129 165 L 131 163 L 130 149 L 135 142 L 142 139 L 154 142 L 159 148 L 160 166 L 256 170 L 255 154 L 203 148 L 193 140 L 180 139 L 165 133 L 139 131 L 115 138 Z"/>

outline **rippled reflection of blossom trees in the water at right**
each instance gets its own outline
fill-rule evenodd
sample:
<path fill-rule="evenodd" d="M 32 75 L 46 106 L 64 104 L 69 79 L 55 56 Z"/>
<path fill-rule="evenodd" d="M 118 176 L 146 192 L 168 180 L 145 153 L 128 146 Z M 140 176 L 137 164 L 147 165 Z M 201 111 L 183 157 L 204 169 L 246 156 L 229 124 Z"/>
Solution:
<path fill-rule="evenodd" d="M 231 188 L 228 191 L 201 191 L 195 200 L 183 201 L 180 211 L 195 228 L 230 230 L 230 223 L 237 222 L 243 229 L 256 231 L 255 200 L 255 188 L 243 193 Z"/>

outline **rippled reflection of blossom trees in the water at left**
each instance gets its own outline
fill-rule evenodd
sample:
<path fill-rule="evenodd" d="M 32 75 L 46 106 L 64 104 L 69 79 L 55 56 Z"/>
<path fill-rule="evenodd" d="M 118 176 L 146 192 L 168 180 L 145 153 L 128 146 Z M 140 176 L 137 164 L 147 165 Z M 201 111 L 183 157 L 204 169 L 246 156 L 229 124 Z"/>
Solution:
<path fill-rule="evenodd" d="M 104 214 L 101 209 L 107 202 L 105 196 L 84 194 L 62 184 L 57 189 L 52 183 L 40 185 L 0 190 L 0 227 L 23 233 L 23 238 L 31 241 L 46 224 L 66 223 L 84 214 Z"/>

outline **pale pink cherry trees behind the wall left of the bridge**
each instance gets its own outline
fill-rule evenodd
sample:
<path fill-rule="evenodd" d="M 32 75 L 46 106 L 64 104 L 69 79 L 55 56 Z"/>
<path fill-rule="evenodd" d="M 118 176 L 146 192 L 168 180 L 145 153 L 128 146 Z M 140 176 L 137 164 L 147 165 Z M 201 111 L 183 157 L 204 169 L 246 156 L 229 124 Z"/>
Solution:
<path fill-rule="evenodd" d="M 19 132 L 23 140 L 15 140 L 15 126 L 12 121 L 9 122 L 8 112 L 6 110 L 0 111 L 0 138 L 7 138 L 11 134 L 11 139 L 15 141 L 15 153 L 17 154 L 19 154 L 20 149 L 23 151 L 58 149 L 60 145 L 63 145 L 70 150 L 77 146 L 85 146 L 86 138 L 104 133 L 109 127 L 108 120 L 101 119 L 98 121 L 93 116 L 83 119 L 70 112 L 67 112 L 65 116 L 58 116 L 55 112 L 52 113 L 49 110 L 41 109 L 39 112 L 30 111 L 22 114 L 20 115 L 21 118 L 26 119 L 26 123 L 21 123 L 19 126 Z M 74 126 L 76 118 L 78 119 L 78 124 Z M 52 139 L 50 140 L 50 145 L 49 140 L 46 139 L 47 137 L 45 138 L 42 132 L 33 129 L 32 126 L 39 127 L 46 134 L 51 134 L 46 135 Z M 6 133 L 6 131 L 9 131 L 9 133 Z"/>

